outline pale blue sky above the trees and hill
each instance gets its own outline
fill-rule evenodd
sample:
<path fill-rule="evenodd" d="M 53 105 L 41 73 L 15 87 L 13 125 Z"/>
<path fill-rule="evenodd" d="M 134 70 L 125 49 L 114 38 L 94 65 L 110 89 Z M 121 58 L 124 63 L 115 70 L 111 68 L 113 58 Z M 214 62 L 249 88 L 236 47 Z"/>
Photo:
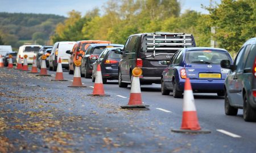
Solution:
<path fill-rule="evenodd" d="M 95 7 L 101 8 L 108 0 L 0 0 L 0 12 L 23 12 L 56 14 L 67 16 L 71 10 L 76 10 L 84 15 L 86 11 Z M 181 13 L 185 10 L 195 10 L 202 14 L 208 11 L 201 8 L 201 4 L 209 6 L 210 0 L 179 0 L 181 3 Z M 221 0 L 214 0 L 220 3 Z"/>

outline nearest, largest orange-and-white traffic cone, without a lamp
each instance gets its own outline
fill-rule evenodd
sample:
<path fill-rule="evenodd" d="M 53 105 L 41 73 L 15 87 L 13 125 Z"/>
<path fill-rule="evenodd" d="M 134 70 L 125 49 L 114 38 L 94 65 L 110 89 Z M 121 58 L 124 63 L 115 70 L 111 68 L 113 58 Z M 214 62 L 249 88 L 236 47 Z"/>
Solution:
<path fill-rule="evenodd" d="M 201 130 L 199 125 L 195 100 L 189 78 L 185 80 L 181 128 L 180 130 L 172 131 L 178 133 L 210 133 L 209 130 Z"/>

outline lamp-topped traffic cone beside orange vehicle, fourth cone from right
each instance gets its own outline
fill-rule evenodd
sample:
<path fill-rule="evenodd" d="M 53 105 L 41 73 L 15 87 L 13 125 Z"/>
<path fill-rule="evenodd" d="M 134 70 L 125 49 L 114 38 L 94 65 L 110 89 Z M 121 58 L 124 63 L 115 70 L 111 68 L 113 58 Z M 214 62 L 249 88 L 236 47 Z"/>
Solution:
<path fill-rule="evenodd" d="M 81 61 L 77 60 L 74 63 L 76 67 L 75 67 L 75 73 L 73 77 L 73 83 L 71 86 L 68 86 L 68 87 L 86 87 L 82 85 L 82 80 L 81 80 L 81 73 L 80 73 Z"/>

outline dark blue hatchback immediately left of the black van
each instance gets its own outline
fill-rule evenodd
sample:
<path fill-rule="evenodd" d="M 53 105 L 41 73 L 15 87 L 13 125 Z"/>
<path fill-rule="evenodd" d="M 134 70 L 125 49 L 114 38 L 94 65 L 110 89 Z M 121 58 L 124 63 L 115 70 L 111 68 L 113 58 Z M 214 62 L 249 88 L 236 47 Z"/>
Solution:
<path fill-rule="evenodd" d="M 93 63 L 92 82 L 95 82 L 97 66 L 101 66 L 102 82 L 107 80 L 118 79 L 118 65 L 121 59 L 121 54 L 115 53 L 115 49 L 123 48 L 106 48 L 98 57 L 97 61 Z"/>

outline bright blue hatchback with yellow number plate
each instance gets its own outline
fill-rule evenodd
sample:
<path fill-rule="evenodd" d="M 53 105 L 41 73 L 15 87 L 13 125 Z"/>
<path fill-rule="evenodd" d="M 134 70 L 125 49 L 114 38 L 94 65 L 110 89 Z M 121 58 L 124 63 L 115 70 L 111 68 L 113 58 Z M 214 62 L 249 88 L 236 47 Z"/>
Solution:
<path fill-rule="evenodd" d="M 189 78 L 193 92 L 217 93 L 224 96 L 224 81 L 229 69 L 222 69 L 220 62 L 232 57 L 225 49 L 220 48 L 184 48 L 178 50 L 162 73 L 162 95 L 182 97 L 185 79 Z"/>

